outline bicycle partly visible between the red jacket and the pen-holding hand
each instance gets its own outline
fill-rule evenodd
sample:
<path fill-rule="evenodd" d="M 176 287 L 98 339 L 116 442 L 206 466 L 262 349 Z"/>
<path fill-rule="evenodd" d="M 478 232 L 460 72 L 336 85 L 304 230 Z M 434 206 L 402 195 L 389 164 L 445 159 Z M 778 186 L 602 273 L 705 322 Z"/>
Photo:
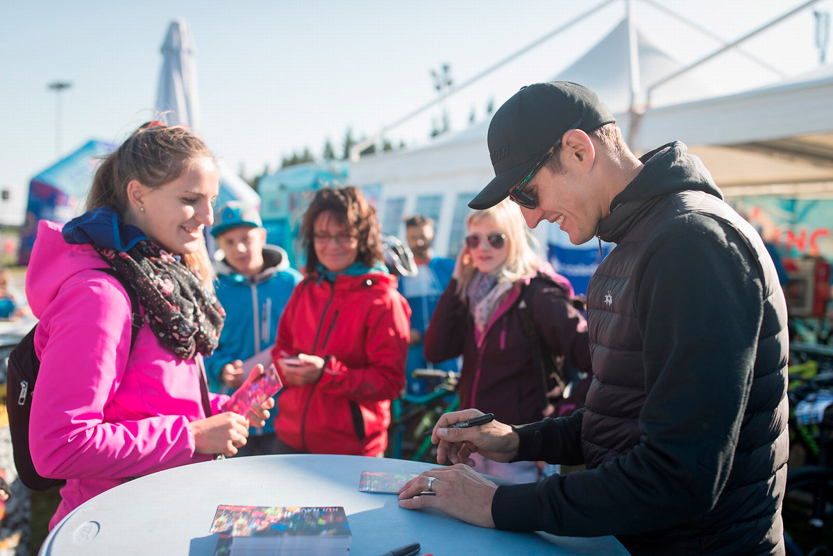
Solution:
<path fill-rule="evenodd" d="M 455 393 L 459 373 L 441 369 L 416 369 L 412 376 L 426 380 L 425 395 L 405 394 L 391 404 L 391 436 L 387 457 L 436 463 L 436 447 L 426 432 L 440 415 L 460 405 Z"/>

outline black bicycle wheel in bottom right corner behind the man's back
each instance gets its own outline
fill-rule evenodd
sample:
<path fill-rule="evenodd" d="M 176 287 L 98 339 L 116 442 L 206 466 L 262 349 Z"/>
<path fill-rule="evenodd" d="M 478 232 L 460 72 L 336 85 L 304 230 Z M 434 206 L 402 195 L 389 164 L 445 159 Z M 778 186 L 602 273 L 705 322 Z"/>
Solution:
<path fill-rule="evenodd" d="M 805 465 L 787 474 L 781 506 L 785 535 L 797 554 L 833 554 L 833 469 Z"/>

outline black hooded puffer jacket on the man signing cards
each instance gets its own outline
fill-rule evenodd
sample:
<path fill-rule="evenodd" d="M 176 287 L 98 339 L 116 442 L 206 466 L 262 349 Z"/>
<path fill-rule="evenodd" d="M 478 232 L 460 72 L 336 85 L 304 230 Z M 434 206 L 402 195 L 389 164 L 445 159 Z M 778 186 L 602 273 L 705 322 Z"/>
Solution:
<path fill-rule="evenodd" d="M 672 143 L 612 203 L 591 279 L 586 408 L 519 459 L 587 471 L 500 487 L 501 529 L 615 534 L 632 554 L 783 554 L 786 303 L 761 238 Z M 650 159 L 650 160 L 649 160 Z"/>

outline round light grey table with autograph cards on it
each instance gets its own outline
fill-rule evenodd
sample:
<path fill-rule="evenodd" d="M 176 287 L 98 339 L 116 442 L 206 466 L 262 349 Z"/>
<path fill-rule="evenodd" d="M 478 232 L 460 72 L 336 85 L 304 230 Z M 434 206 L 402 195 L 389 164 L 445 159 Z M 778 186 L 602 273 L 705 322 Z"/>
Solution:
<path fill-rule="evenodd" d="M 436 467 L 348 455 L 261 455 L 185 465 L 134 479 L 88 500 L 47 536 L 40 556 L 211 556 L 219 504 L 344 506 L 350 554 L 378 556 L 420 543 L 420 554 L 627 554 L 613 537 L 580 539 L 482 529 L 438 510 L 407 510 L 396 494 L 362 493 L 362 471 Z"/>

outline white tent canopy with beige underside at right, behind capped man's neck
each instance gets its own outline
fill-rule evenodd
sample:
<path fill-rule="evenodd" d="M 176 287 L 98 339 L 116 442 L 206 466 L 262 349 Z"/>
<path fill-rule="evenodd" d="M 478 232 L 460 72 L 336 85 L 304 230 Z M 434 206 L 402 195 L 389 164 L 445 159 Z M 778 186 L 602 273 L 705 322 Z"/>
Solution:
<path fill-rule="evenodd" d="M 652 108 L 626 127 L 637 151 L 684 141 L 728 196 L 752 193 L 739 186 L 759 186 L 755 193 L 833 191 L 831 66 L 770 87 Z"/>

